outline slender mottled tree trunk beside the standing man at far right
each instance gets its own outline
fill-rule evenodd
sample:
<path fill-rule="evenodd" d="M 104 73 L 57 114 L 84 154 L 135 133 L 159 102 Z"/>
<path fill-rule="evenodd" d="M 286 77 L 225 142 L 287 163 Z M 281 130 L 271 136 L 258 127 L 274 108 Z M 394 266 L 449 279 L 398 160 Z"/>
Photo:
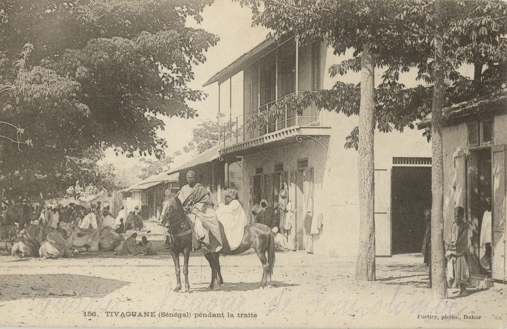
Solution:
<path fill-rule="evenodd" d="M 435 3 L 437 28 L 435 35 L 435 70 L 431 108 L 431 277 L 433 298 L 447 298 L 444 249 L 444 154 L 442 150 L 442 108 L 445 103 L 445 71 L 443 58 L 442 1 Z"/>

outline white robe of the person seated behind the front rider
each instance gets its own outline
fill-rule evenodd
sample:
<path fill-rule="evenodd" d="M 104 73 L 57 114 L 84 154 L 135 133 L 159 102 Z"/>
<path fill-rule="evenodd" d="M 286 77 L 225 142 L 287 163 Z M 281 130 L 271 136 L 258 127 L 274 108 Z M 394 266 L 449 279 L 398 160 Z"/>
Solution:
<path fill-rule="evenodd" d="M 239 201 L 232 200 L 228 205 L 221 203 L 216 209 L 216 216 L 224 226 L 225 236 L 231 250 L 239 247 L 243 241 L 245 226 L 248 225 L 248 219 Z"/>

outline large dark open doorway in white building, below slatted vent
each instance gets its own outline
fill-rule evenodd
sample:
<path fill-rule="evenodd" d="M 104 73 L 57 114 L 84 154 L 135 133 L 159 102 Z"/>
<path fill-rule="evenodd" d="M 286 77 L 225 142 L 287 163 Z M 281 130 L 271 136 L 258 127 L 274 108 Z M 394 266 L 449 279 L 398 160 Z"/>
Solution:
<path fill-rule="evenodd" d="M 421 252 L 431 209 L 431 167 L 392 167 L 392 253 Z"/>

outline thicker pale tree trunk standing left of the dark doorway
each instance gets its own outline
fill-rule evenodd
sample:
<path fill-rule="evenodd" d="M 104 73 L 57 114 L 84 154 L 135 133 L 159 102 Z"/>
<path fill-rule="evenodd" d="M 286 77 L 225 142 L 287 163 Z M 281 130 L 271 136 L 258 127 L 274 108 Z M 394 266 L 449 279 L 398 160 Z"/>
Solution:
<path fill-rule="evenodd" d="M 375 220 L 373 217 L 375 181 L 375 63 L 370 44 L 363 45 L 361 55 L 361 102 L 359 106 L 359 252 L 355 279 L 375 281 Z"/>

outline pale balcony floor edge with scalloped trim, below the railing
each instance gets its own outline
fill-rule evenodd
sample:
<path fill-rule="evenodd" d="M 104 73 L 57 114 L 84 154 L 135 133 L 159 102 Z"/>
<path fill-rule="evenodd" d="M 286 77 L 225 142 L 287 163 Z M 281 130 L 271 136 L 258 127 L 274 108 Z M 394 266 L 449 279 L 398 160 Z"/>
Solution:
<path fill-rule="evenodd" d="M 281 147 L 306 138 L 321 138 L 330 136 L 331 127 L 299 127 L 294 126 L 283 130 L 275 131 L 257 138 L 243 141 L 222 147 L 220 155 L 232 157 L 243 156 L 245 154 L 257 153 L 272 148 Z"/>

